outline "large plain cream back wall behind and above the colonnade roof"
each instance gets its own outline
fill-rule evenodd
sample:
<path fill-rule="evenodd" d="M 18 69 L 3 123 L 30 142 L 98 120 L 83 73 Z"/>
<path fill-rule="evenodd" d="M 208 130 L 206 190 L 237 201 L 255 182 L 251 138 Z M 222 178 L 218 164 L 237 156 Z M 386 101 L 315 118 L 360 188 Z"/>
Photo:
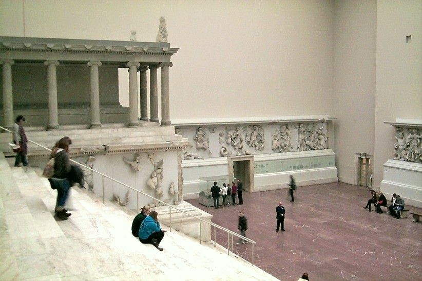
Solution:
<path fill-rule="evenodd" d="M 331 115 L 332 1 L 3 0 L 0 35 L 155 41 L 160 16 L 171 118 Z"/>

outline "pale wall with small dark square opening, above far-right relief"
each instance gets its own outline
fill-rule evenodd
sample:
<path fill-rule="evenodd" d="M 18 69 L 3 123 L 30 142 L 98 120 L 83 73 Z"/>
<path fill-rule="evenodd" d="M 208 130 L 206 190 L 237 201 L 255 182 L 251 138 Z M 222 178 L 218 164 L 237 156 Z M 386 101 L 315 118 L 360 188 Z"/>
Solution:
<path fill-rule="evenodd" d="M 376 34 L 374 179 L 379 186 L 395 143 L 394 127 L 383 122 L 422 119 L 422 1 L 378 1 Z"/>

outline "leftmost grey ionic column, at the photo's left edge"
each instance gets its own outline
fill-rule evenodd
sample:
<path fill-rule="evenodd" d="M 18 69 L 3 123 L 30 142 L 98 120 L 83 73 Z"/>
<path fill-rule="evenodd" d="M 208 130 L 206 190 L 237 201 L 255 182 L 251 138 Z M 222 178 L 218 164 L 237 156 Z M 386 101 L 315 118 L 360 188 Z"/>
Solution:
<path fill-rule="evenodd" d="M 3 65 L 3 126 L 9 130 L 13 128 L 13 89 L 12 65 L 13 59 L 1 59 Z"/>

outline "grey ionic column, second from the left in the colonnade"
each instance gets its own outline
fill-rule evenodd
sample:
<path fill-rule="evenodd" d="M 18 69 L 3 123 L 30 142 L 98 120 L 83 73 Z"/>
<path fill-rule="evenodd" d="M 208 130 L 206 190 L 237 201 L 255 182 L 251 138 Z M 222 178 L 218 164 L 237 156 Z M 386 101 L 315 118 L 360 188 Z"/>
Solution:
<path fill-rule="evenodd" d="M 58 61 L 45 61 L 47 66 L 47 86 L 48 86 L 48 130 L 59 128 L 59 108 L 57 107 L 57 75 L 56 66 Z"/>

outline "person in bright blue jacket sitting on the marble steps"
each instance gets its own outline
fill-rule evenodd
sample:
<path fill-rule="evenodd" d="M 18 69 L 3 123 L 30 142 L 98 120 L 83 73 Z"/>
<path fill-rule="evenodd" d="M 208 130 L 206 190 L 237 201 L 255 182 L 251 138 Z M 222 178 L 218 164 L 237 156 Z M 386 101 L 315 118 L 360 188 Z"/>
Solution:
<path fill-rule="evenodd" d="M 152 244 L 154 247 L 160 251 L 164 250 L 163 248 L 158 247 L 161 240 L 164 237 L 165 230 L 161 230 L 160 223 L 157 219 L 158 213 L 156 211 L 151 211 L 149 216 L 145 217 L 144 221 L 139 228 L 139 240 L 143 244 Z"/>

